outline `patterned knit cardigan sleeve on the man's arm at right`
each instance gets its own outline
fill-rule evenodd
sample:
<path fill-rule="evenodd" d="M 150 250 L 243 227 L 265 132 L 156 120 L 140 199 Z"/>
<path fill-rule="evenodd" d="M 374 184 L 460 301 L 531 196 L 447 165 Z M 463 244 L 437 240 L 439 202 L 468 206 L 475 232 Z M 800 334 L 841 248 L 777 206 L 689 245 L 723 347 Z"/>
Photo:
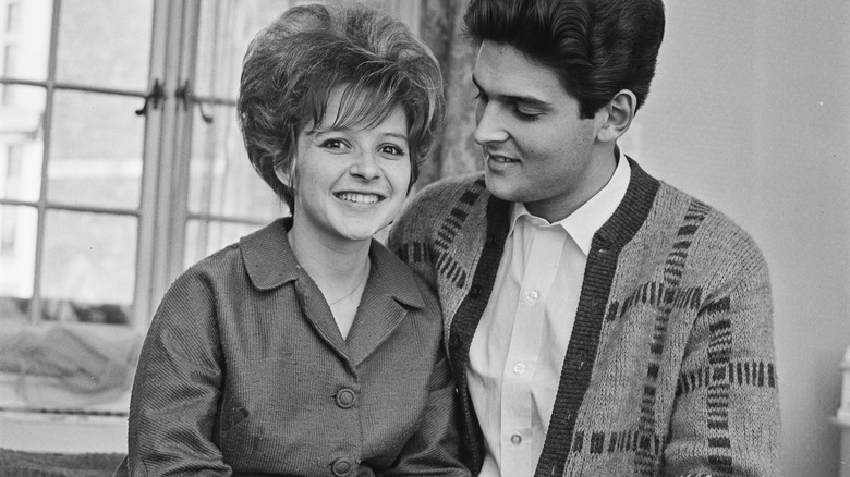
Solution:
<path fill-rule="evenodd" d="M 757 254 L 739 271 L 741 278 L 706 296 L 696 315 L 678 378 L 665 476 L 778 475 L 767 267 Z"/>

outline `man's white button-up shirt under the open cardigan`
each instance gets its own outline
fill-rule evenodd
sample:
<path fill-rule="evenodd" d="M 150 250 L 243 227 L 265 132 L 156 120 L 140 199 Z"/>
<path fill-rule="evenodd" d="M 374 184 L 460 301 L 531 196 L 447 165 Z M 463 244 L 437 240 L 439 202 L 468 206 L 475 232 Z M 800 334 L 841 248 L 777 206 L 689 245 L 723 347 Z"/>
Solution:
<path fill-rule="evenodd" d="M 491 298 L 470 347 L 470 394 L 485 440 L 482 477 L 533 476 L 543 452 L 593 235 L 626 195 L 617 158 L 608 183 L 549 223 L 513 204 Z"/>

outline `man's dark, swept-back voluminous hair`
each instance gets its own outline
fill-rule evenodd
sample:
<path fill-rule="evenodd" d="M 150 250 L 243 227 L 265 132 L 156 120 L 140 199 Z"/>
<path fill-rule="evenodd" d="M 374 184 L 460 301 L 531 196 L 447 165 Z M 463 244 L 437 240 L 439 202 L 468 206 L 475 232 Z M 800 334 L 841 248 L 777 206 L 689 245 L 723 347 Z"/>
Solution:
<path fill-rule="evenodd" d="M 464 35 L 510 45 L 554 71 L 593 118 L 622 89 L 646 100 L 664 38 L 661 0 L 472 0 Z"/>

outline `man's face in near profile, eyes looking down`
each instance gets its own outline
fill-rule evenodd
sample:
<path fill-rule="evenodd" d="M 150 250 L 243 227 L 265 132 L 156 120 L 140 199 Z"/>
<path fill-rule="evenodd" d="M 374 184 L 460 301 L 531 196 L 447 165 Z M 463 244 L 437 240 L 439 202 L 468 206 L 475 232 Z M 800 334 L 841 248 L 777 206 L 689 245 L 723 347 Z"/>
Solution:
<path fill-rule="evenodd" d="M 579 102 L 548 68 L 508 45 L 484 41 L 473 72 L 478 88 L 474 139 L 487 188 L 560 220 L 593 197 L 616 166 L 596 140 L 607 114 L 579 118 Z"/>

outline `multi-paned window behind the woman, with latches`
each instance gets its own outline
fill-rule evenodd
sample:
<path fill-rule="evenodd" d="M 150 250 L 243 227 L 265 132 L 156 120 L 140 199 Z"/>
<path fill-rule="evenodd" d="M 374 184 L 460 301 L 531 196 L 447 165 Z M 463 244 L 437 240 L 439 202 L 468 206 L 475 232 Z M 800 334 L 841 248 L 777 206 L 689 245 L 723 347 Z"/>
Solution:
<path fill-rule="evenodd" d="M 234 110 L 248 41 L 296 3 L 0 0 L 0 330 L 144 332 L 189 265 L 286 213 Z"/>

